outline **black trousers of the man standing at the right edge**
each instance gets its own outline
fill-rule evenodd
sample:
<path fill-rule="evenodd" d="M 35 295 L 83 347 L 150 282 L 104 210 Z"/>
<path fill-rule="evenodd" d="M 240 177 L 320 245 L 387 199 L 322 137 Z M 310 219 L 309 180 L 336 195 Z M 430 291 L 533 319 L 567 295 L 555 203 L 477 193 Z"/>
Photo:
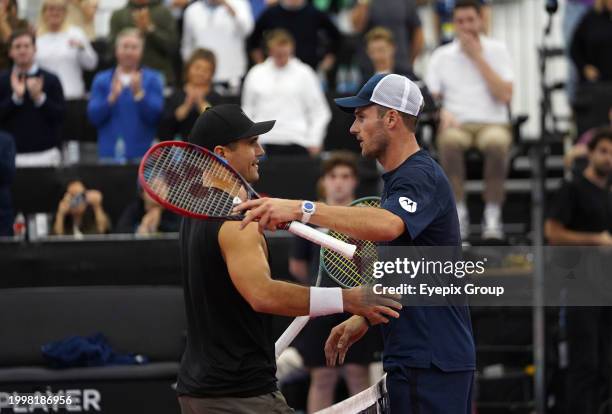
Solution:
<path fill-rule="evenodd" d="M 610 396 L 612 309 L 568 307 L 566 413 L 607 414 L 600 411 Z"/>

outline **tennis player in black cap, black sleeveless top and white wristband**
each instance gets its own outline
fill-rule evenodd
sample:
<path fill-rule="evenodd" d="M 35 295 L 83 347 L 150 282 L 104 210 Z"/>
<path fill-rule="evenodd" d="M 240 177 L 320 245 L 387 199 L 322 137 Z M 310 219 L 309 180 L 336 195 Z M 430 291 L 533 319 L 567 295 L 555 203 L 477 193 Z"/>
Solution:
<path fill-rule="evenodd" d="M 254 123 L 237 105 L 200 115 L 189 137 L 223 157 L 249 183 L 259 179 L 258 142 L 274 121 Z M 257 224 L 183 219 L 181 263 L 187 345 L 177 381 L 183 414 L 290 413 L 276 384 L 272 315 L 343 311 L 373 323 L 399 313 L 368 304 L 362 289 L 307 288 L 273 280 Z M 387 299 L 395 308 L 401 306 Z"/>

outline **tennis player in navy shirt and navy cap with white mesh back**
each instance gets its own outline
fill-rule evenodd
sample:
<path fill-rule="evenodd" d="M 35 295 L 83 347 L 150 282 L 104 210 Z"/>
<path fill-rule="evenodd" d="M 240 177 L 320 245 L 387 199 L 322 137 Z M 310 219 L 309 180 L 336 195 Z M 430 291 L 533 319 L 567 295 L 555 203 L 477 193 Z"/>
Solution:
<path fill-rule="evenodd" d="M 444 171 L 415 137 L 423 96 L 415 83 L 377 74 L 356 96 L 336 104 L 354 113 L 351 133 L 364 157 L 385 170 L 382 208 L 350 208 L 308 200 L 262 198 L 241 204 L 242 225 L 259 220 L 274 230 L 290 220 L 373 240 L 386 246 L 460 246 L 455 200 Z M 359 316 L 336 326 L 327 340 L 327 362 L 342 363 L 347 349 L 369 329 Z M 470 414 L 476 368 L 467 306 L 404 306 L 382 327 L 383 363 L 391 411 L 401 414 Z"/>

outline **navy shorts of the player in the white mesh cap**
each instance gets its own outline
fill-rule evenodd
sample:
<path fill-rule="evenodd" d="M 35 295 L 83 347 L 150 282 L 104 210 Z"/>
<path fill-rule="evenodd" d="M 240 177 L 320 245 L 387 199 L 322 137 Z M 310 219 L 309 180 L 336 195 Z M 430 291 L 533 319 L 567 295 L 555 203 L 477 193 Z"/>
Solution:
<path fill-rule="evenodd" d="M 387 367 L 392 414 L 472 414 L 474 371 Z"/>

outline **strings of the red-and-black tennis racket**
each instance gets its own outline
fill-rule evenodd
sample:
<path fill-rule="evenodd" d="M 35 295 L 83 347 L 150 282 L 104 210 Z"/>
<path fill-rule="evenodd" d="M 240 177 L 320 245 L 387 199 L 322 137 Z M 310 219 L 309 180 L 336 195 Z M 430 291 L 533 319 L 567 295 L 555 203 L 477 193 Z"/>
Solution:
<path fill-rule="evenodd" d="M 160 147 L 144 165 L 144 178 L 165 202 L 208 216 L 227 216 L 244 188 L 221 162 L 184 147 Z"/>

